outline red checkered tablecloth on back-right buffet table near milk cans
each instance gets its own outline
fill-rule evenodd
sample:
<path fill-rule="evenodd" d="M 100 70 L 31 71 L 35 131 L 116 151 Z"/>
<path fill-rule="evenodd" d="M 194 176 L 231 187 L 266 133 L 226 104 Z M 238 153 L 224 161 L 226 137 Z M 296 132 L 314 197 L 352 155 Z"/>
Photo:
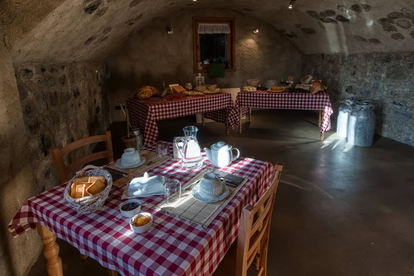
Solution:
<path fill-rule="evenodd" d="M 273 93 L 266 91 L 239 92 L 235 108 L 230 111 L 230 126 L 239 125 L 239 107 L 243 108 L 243 113 L 246 113 L 248 108 L 323 110 L 324 118 L 320 131 L 324 133 L 331 129 L 333 108 L 326 91 L 316 94 L 304 92 Z"/>

